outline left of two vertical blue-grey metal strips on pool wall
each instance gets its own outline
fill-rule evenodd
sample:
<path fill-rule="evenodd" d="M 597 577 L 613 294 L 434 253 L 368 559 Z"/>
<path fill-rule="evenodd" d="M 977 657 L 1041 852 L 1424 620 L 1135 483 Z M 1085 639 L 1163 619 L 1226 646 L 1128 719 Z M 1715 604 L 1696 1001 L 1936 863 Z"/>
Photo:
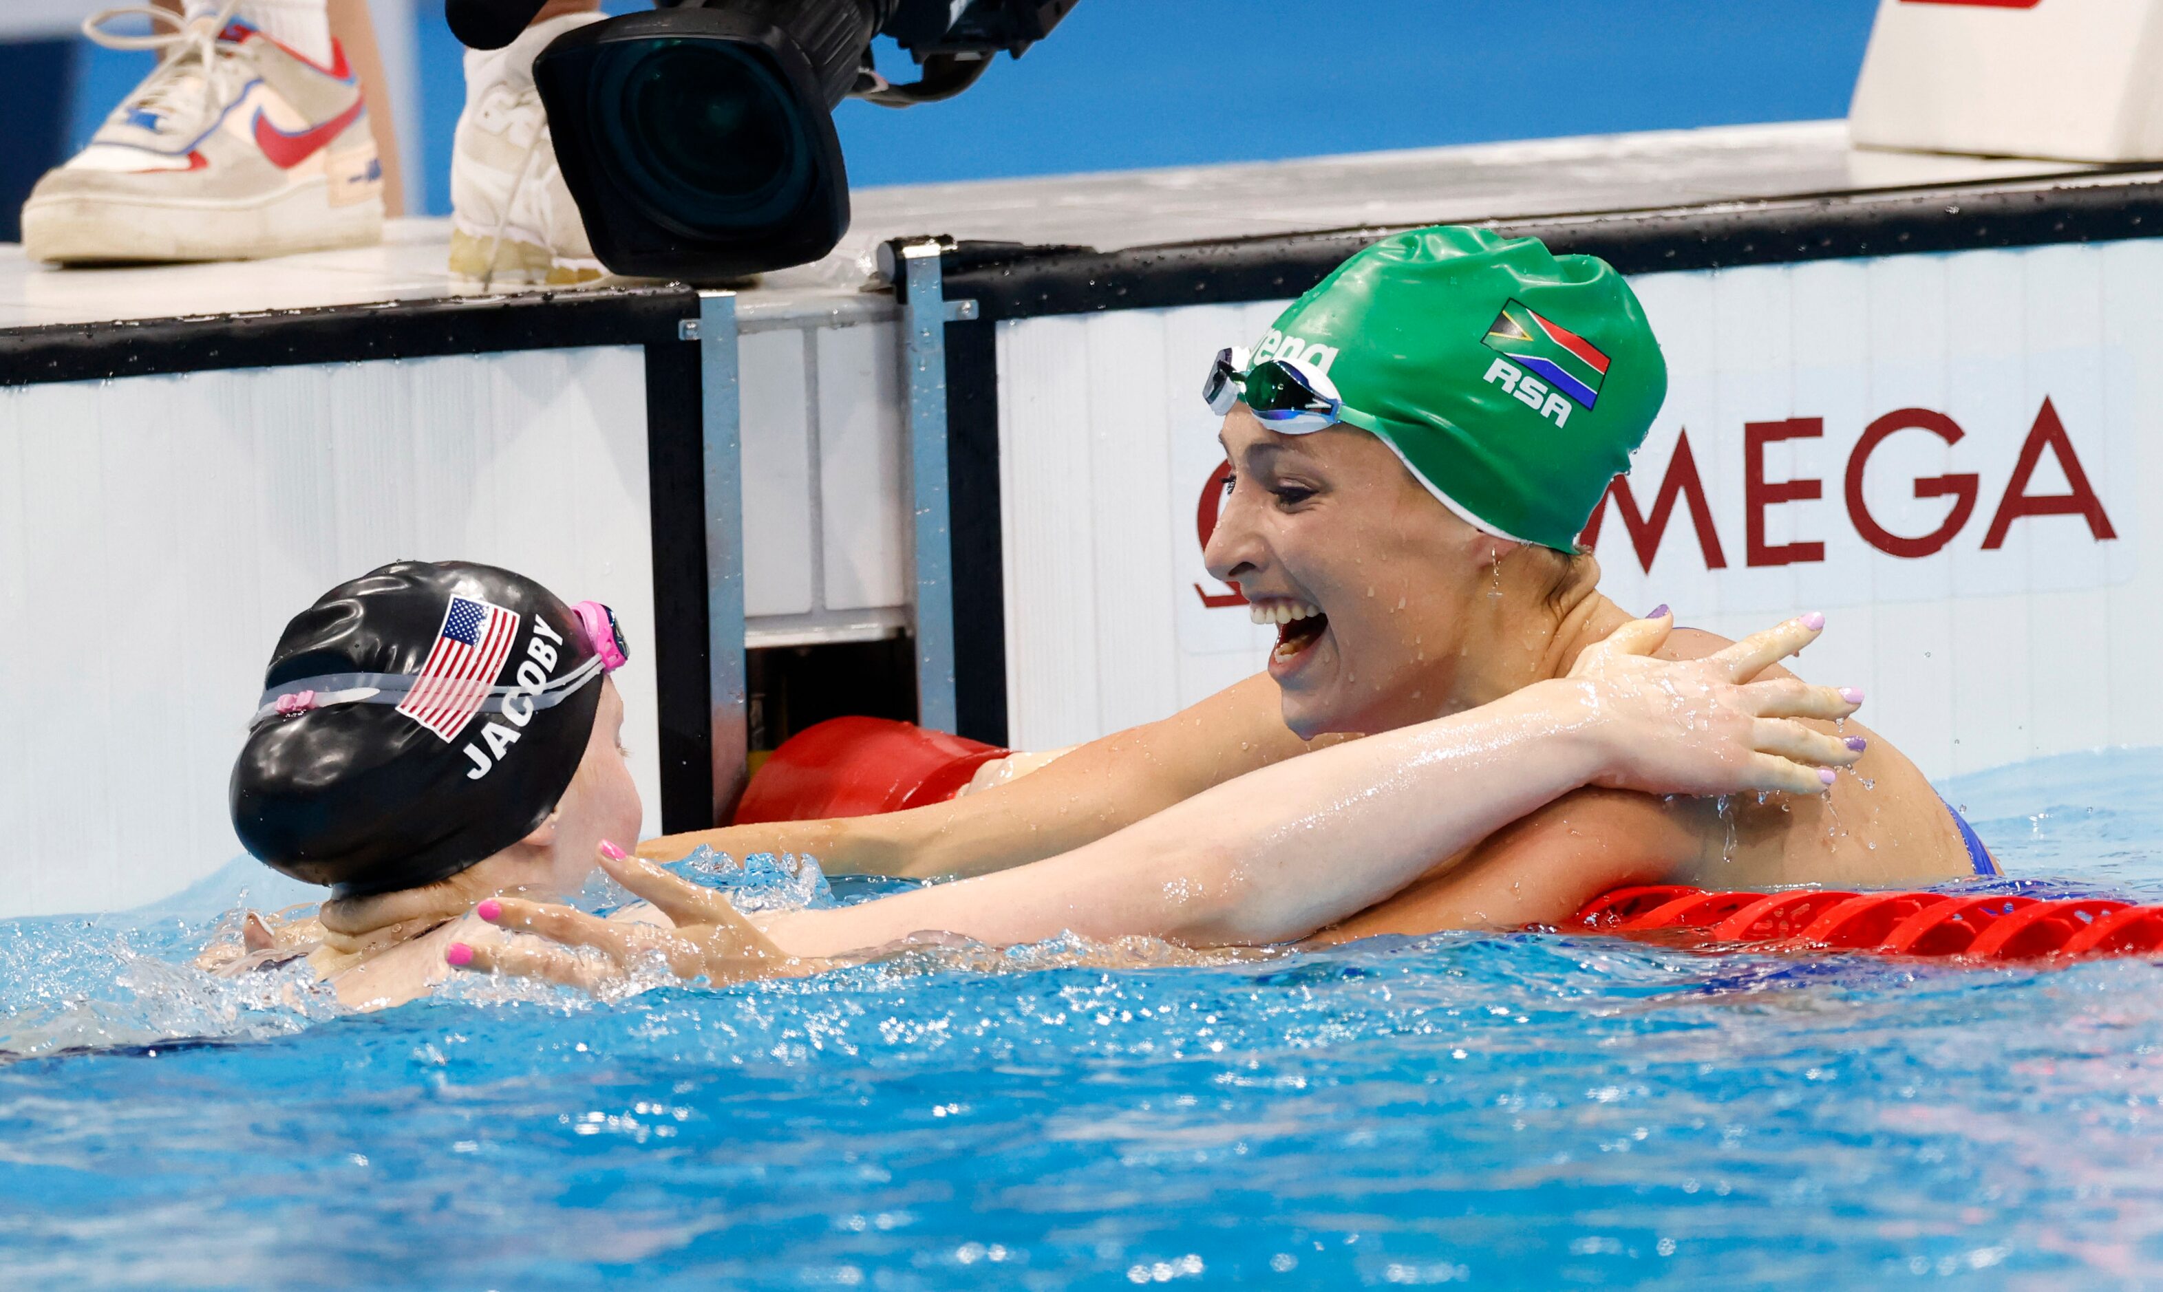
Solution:
<path fill-rule="evenodd" d="M 699 344 L 705 449 L 705 659 L 714 713 L 714 823 L 735 815 L 751 765 L 744 681 L 744 441 L 735 292 L 699 292 L 699 318 L 677 335 Z"/>

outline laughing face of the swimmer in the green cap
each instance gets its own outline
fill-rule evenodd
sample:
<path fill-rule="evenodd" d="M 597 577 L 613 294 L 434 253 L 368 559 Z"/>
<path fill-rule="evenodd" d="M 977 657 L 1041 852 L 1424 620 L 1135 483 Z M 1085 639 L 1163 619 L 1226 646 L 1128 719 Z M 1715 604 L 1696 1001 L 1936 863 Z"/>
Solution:
<path fill-rule="evenodd" d="M 1365 430 L 1276 434 L 1242 404 L 1220 439 L 1233 482 L 1203 555 L 1285 620 L 1270 652 L 1285 726 L 1313 739 L 1451 711 L 1464 607 L 1484 594 L 1495 540 Z"/>

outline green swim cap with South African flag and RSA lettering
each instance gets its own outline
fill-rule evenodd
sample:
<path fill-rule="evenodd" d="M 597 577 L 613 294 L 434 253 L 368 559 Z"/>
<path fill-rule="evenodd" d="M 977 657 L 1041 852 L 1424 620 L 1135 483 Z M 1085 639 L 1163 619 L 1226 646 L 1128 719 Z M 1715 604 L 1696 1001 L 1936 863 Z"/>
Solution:
<path fill-rule="evenodd" d="M 1363 248 L 1291 302 L 1255 363 L 1328 374 L 1371 430 L 1471 525 L 1560 551 L 1629 471 L 1668 395 L 1622 274 L 1538 238 L 1443 225 Z"/>

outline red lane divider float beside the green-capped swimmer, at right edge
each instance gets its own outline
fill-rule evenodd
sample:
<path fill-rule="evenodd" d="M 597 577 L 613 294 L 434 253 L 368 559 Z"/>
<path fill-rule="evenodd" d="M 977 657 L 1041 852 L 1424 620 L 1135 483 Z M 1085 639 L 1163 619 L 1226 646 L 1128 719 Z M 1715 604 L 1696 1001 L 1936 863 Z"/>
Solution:
<path fill-rule="evenodd" d="M 1670 942 L 1696 933 L 1704 944 L 1776 942 L 1970 961 L 2163 953 L 2163 905 L 2009 892 L 1707 892 L 1646 884 L 1603 892 L 1568 927 Z"/>

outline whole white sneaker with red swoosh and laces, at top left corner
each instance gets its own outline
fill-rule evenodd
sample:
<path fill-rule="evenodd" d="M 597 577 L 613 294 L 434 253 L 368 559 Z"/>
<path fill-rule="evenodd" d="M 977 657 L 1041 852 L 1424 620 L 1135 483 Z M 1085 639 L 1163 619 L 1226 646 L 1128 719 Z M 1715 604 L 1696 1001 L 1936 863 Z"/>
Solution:
<path fill-rule="evenodd" d="M 234 19 L 236 4 L 147 37 L 95 26 L 145 11 L 84 24 L 102 45 L 160 60 L 30 190 L 30 259 L 253 259 L 383 240 L 383 166 L 344 50 L 318 67 Z"/>

